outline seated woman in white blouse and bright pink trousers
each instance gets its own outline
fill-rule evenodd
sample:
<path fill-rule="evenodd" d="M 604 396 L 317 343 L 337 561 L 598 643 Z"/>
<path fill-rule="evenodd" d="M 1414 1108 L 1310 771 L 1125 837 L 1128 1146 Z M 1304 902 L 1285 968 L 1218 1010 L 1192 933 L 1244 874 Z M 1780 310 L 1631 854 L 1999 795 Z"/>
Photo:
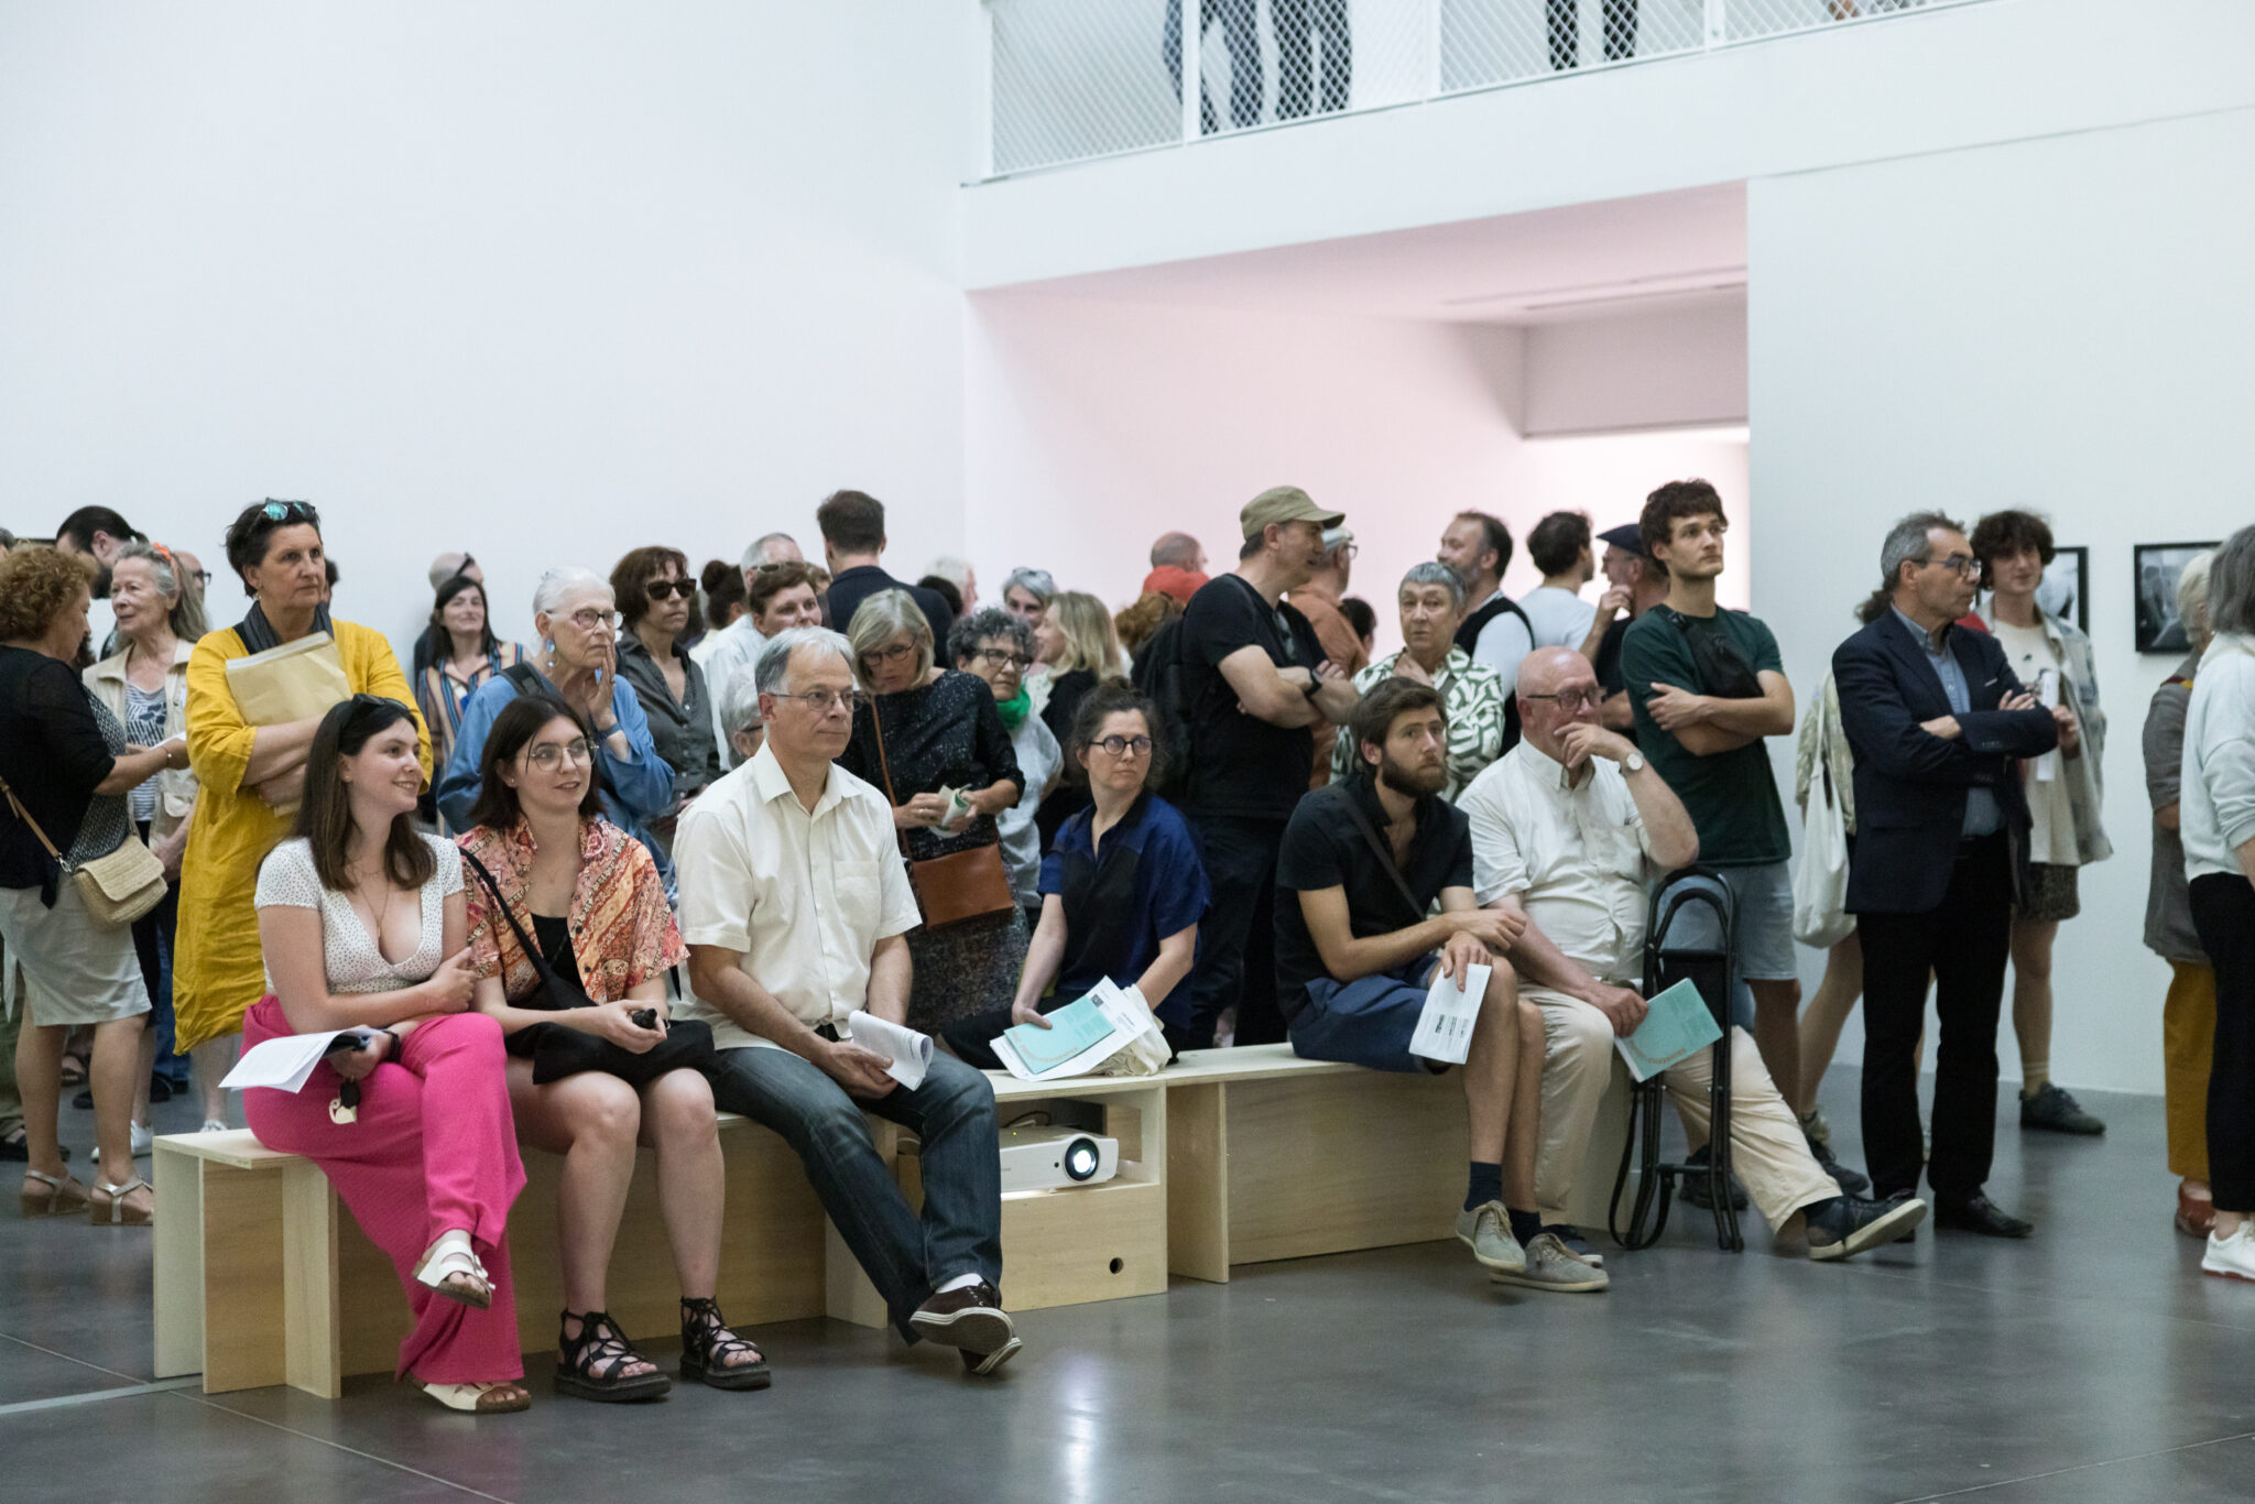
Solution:
<path fill-rule="evenodd" d="M 307 753 L 293 839 L 259 868 L 268 997 L 244 1049 L 361 1030 L 307 1085 L 250 1089 L 244 1116 L 322 1168 L 399 1269 L 415 1330 L 399 1373 L 474 1414 L 525 1409 L 507 1218 L 525 1186 L 501 1026 L 467 1012 L 469 920 L 460 852 L 413 823 L 417 719 L 354 695 Z"/>

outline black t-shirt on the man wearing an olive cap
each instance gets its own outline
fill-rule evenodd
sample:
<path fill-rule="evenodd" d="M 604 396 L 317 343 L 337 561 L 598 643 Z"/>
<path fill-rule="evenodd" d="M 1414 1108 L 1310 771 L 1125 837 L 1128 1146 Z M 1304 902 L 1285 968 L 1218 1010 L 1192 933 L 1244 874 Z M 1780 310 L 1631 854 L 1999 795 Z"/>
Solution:
<path fill-rule="evenodd" d="M 1315 672 L 1324 645 L 1290 602 L 1270 607 L 1240 575 L 1215 575 L 1182 613 L 1182 708 L 1191 726 L 1191 767 L 1182 807 L 1288 821 L 1308 791 L 1315 737 L 1306 726 L 1272 726 L 1238 708 L 1220 663 L 1258 647 L 1276 667 Z"/>

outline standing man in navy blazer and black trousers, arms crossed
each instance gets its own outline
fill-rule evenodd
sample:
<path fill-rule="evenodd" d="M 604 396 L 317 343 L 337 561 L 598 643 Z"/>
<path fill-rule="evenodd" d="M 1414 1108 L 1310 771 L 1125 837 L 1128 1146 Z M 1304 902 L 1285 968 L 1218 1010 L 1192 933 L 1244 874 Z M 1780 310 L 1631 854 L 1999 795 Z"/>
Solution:
<path fill-rule="evenodd" d="M 2075 746 L 2005 649 L 1957 627 L 1980 561 L 1939 512 L 1905 516 L 1881 548 L 1867 627 L 1833 652 L 1840 724 L 1856 753 L 1847 909 L 1863 938 L 1863 1148 L 1872 1195 L 1919 1184 L 1919 1030 L 1935 979 L 1935 1224 L 1991 1238 L 2034 1227 L 1987 1197 L 1996 1148 L 1996 1021 L 2011 904 L 2027 859 L 2018 758 Z"/>

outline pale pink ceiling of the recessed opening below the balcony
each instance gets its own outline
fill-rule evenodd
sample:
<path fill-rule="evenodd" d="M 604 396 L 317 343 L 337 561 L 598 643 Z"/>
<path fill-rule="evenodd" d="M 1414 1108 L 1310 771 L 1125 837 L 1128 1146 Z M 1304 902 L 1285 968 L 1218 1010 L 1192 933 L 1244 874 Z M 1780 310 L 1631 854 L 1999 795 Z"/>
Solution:
<path fill-rule="evenodd" d="M 992 298 L 1542 325 L 1745 300 L 1745 185 L 1058 277 Z"/>

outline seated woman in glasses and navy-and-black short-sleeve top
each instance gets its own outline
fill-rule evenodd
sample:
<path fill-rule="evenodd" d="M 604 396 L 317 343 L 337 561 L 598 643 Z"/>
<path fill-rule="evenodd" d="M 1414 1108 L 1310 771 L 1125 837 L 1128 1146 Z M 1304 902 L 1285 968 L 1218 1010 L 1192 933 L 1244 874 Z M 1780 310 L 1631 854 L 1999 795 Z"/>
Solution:
<path fill-rule="evenodd" d="M 994 1035 L 1012 1024 L 1046 1028 L 1044 1012 L 1107 976 L 1137 988 L 1157 1012 L 1191 974 L 1206 868 L 1188 821 L 1150 791 L 1159 760 L 1152 717 L 1150 699 L 1116 681 L 1080 701 L 1071 767 L 1087 778 L 1091 803 L 1042 861 L 1042 922 L 1017 997 L 947 1030 L 949 1049 L 970 1064 L 997 1069 Z"/>

